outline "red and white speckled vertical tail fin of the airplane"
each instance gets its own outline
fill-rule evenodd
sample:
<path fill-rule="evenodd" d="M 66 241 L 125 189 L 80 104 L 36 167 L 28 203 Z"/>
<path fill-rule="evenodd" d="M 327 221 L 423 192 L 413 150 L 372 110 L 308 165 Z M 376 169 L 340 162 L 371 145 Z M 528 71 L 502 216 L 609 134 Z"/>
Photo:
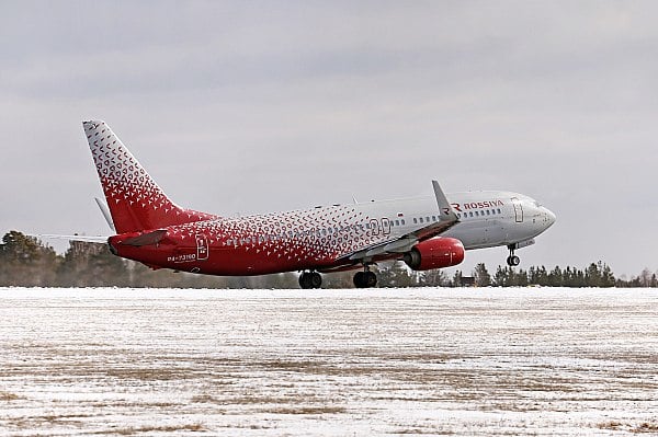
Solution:
<path fill-rule="evenodd" d="M 83 122 L 82 126 L 116 232 L 215 218 L 175 205 L 104 122 Z"/>

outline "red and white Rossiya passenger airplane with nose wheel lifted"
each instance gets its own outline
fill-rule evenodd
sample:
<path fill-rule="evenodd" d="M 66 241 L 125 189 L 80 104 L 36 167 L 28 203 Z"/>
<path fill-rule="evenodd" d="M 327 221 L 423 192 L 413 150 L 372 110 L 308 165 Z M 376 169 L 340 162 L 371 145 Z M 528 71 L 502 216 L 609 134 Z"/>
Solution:
<path fill-rule="evenodd" d="M 356 288 L 375 287 L 371 267 L 405 262 L 413 271 L 455 266 L 464 252 L 515 251 L 555 222 L 538 202 L 503 191 L 332 205 L 247 217 L 224 217 L 174 204 L 102 120 L 83 122 L 115 234 L 70 239 L 105 242 L 121 257 L 147 266 L 220 276 L 299 272 L 299 286 L 320 288 L 321 274 L 358 271 Z"/>

